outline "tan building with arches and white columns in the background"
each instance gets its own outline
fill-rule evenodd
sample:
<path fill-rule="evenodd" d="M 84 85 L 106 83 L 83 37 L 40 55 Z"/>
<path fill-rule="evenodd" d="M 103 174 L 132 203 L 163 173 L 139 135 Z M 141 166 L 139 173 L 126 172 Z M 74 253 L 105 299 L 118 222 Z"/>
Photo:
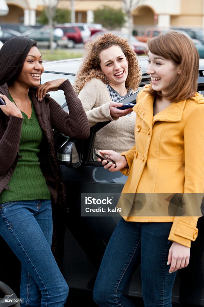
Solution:
<path fill-rule="evenodd" d="M 0 16 L 0 22 L 35 25 L 45 1 L 57 0 L 6 0 L 9 13 Z M 76 22 L 93 22 L 94 11 L 103 5 L 122 8 L 121 0 L 59 0 L 58 7 L 71 10 L 71 2 Z M 149 26 L 204 28 L 204 0 L 141 0 L 132 10 L 132 24 L 138 31 Z"/>

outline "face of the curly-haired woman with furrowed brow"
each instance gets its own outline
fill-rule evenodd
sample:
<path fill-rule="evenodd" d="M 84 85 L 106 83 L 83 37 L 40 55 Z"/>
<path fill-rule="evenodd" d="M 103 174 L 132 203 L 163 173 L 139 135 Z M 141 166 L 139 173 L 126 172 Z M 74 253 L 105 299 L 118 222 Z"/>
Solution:
<path fill-rule="evenodd" d="M 125 87 L 128 75 L 128 60 L 122 49 L 118 46 L 111 46 L 100 52 L 100 68 L 108 79 L 108 84 L 113 88 L 121 85 Z"/>

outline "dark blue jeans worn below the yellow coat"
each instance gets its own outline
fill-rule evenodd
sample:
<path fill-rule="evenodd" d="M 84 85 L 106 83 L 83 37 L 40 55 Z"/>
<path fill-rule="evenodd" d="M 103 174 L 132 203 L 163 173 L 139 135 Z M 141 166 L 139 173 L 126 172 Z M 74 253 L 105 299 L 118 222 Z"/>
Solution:
<path fill-rule="evenodd" d="M 119 221 L 96 278 L 94 301 L 100 307 L 134 307 L 123 290 L 141 259 L 145 307 L 172 306 L 175 273 L 168 273 L 168 240 L 172 223 Z"/>

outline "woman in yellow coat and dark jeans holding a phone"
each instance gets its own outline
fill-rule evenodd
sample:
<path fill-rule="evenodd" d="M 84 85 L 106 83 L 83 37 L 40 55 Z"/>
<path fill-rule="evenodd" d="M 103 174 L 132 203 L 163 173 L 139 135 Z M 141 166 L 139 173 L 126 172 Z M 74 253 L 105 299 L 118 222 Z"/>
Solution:
<path fill-rule="evenodd" d="M 94 288 L 100 307 L 132 307 L 123 295 L 141 258 L 145 307 L 172 306 L 176 271 L 189 263 L 204 193 L 204 98 L 196 92 L 198 51 L 185 35 L 148 41 L 151 84 L 138 93 L 135 146 L 101 150 L 129 175 L 117 206 L 119 221 Z M 100 159 L 98 160 L 100 161 Z M 176 202 L 175 202 L 176 201 Z"/>

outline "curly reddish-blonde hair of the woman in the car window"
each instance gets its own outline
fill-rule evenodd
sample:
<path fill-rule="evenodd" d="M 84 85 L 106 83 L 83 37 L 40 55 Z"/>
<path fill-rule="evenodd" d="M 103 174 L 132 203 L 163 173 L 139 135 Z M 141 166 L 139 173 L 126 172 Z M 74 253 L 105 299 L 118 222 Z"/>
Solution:
<path fill-rule="evenodd" d="M 136 90 L 140 84 L 141 74 L 140 66 L 136 53 L 128 45 L 128 40 L 115 36 L 111 33 L 104 34 L 102 37 L 98 36 L 85 45 L 84 60 L 81 64 L 74 82 L 74 90 L 77 95 L 92 78 L 101 79 L 104 83 L 108 83 L 104 73 L 100 68 L 100 52 L 111 46 L 119 46 L 128 60 L 128 76 L 126 79 L 126 87 Z"/>

